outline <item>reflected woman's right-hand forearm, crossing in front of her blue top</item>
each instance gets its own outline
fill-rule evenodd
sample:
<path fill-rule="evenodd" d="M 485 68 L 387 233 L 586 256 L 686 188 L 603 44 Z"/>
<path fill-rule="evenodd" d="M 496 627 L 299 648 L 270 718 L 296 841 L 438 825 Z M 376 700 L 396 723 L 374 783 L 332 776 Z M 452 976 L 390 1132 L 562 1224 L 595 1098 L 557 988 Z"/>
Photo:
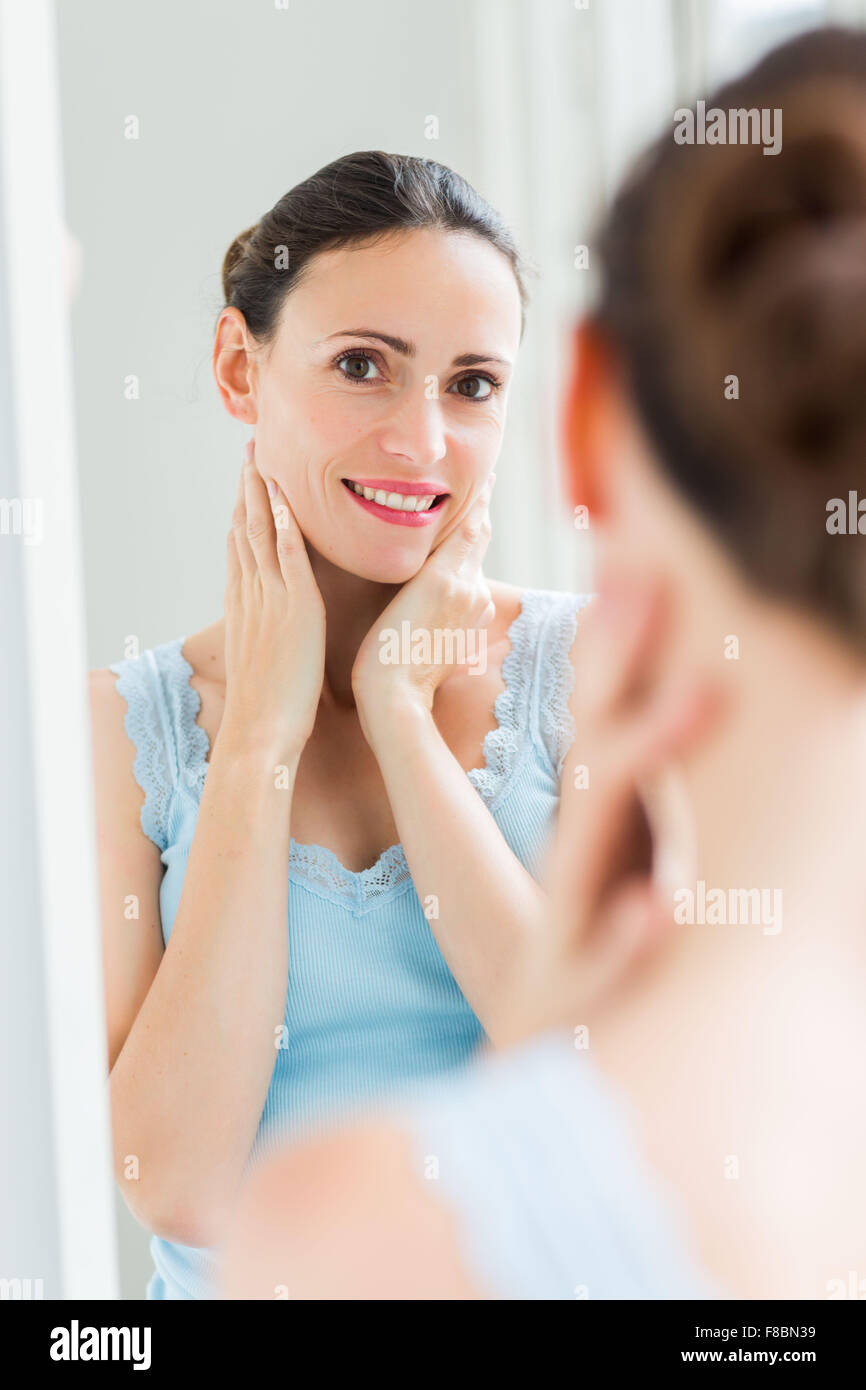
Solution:
<path fill-rule="evenodd" d="M 367 721 L 416 891 L 442 955 L 498 1041 L 546 895 L 506 844 L 432 714 L 405 701 Z"/>

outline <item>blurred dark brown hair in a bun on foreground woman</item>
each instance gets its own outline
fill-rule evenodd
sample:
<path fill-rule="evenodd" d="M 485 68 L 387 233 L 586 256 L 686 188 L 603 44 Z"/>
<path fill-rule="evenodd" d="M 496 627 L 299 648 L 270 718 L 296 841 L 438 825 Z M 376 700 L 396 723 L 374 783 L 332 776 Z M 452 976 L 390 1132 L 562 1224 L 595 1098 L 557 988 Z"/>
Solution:
<path fill-rule="evenodd" d="M 755 107 L 781 110 L 777 154 L 678 145 L 673 120 L 646 152 L 598 239 L 595 320 L 751 578 L 866 644 L 866 537 L 827 531 L 866 495 L 866 35 L 803 35 L 706 99 Z"/>

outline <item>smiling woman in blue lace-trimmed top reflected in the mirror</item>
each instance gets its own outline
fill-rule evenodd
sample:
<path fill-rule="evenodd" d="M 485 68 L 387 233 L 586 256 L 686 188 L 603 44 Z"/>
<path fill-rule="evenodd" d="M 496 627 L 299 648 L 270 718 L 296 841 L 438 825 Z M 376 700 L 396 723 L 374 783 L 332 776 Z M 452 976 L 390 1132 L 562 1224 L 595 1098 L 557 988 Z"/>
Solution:
<path fill-rule="evenodd" d="M 524 292 L 463 179 L 336 160 L 224 289 L 214 375 L 253 431 L 225 614 L 93 678 L 115 1169 L 153 1298 L 213 1295 L 250 1156 L 496 1038 L 584 602 L 481 570 Z"/>

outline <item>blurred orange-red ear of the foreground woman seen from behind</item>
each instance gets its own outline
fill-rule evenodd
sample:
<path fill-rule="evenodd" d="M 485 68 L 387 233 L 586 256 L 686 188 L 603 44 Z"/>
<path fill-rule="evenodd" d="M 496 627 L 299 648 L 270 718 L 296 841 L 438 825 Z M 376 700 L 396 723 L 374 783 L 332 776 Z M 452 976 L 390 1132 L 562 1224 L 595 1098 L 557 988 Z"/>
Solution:
<path fill-rule="evenodd" d="M 584 320 L 571 339 L 571 368 L 563 409 L 566 488 L 573 506 L 605 514 L 603 436 L 613 402 L 616 368 L 613 353 L 591 320 Z"/>

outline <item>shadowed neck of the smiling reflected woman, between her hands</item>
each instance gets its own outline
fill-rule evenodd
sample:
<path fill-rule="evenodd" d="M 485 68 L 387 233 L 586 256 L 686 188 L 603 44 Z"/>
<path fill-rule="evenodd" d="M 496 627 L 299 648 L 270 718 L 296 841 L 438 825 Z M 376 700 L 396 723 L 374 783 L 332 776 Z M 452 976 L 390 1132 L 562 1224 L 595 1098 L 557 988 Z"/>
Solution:
<path fill-rule="evenodd" d="M 322 695 L 353 705 L 352 666 L 377 617 L 388 607 L 399 584 L 379 584 L 341 570 L 307 542 L 310 566 L 325 605 L 325 684 Z"/>

